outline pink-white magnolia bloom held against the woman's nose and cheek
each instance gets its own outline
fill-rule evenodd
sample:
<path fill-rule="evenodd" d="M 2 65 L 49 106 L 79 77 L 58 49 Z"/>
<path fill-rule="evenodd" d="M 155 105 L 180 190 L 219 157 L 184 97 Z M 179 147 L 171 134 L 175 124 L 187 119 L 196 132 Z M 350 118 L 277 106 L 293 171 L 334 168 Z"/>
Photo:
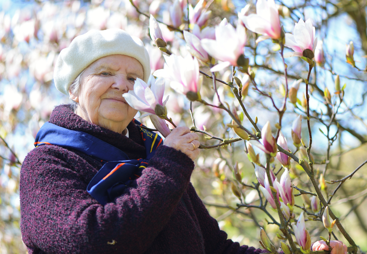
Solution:
<path fill-rule="evenodd" d="M 134 90 L 130 90 L 122 95 L 132 108 L 147 113 L 140 118 L 146 117 L 147 115 L 155 115 L 157 108 L 164 108 L 168 100 L 167 96 L 166 100 L 162 102 L 165 83 L 163 78 L 155 80 L 155 78 L 150 76 L 148 83 L 149 82 L 150 87 L 143 80 L 137 78 L 137 80 L 135 80 Z"/>

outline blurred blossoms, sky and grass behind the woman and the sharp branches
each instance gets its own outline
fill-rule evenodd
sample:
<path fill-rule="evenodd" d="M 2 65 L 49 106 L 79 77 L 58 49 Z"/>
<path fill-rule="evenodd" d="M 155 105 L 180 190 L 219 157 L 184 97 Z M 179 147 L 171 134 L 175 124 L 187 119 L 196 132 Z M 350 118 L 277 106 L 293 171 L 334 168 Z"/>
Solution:
<path fill-rule="evenodd" d="M 192 5 L 196 0 L 189 0 Z M 133 0 L 132 3 L 145 14 L 153 14 L 158 20 L 170 23 L 169 8 L 172 3 L 163 0 Z M 255 12 L 255 2 L 241 0 L 210 0 L 208 10 L 212 11 L 209 26 L 217 25 L 223 18 L 236 25 L 237 12 L 246 4 L 252 4 L 250 12 Z M 276 1 L 281 10 L 281 23 L 286 32 L 292 32 L 294 23 L 299 18 L 310 18 L 316 27 L 316 36 L 323 41 L 326 63 L 317 66 L 310 78 L 310 109 L 314 146 L 312 154 L 315 158 L 317 178 L 326 171 L 326 180 L 342 178 L 355 170 L 367 158 L 367 110 L 365 96 L 367 94 L 367 76 L 363 71 L 366 66 L 367 25 L 366 0 L 296 0 Z M 163 67 L 161 51 L 153 46 L 148 35 L 149 19 L 137 12 L 129 0 L 92 0 L 88 1 L 9 1 L 0 2 L 0 254 L 26 253 L 19 229 L 19 170 L 26 154 L 33 148 L 34 137 L 55 105 L 69 103 L 53 84 L 53 69 L 59 52 L 68 47 L 73 38 L 90 29 L 120 28 L 137 36 L 145 43 L 151 57 L 152 70 Z M 185 13 L 185 12 L 184 12 Z M 186 12 L 187 15 L 187 12 Z M 187 18 L 183 18 L 186 22 Z M 187 28 L 183 25 L 181 28 Z M 161 26 L 165 40 L 171 52 L 185 56 L 182 34 L 172 32 Z M 271 93 L 275 103 L 282 100 L 281 85 L 284 84 L 283 66 L 274 44 L 263 41 L 258 45 L 256 35 L 247 32 L 248 42 L 245 55 L 250 58 L 250 69 L 256 73 L 256 80 L 263 91 Z M 354 59 L 360 70 L 353 68 L 345 61 L 345 46 L 354 42 Z M 299 58 L 286 60 L 288 64 L 288 83 L 307 75 L 307 65 Z M 208 69 L 203 66 L 203 71 Z M 333 107 L 325 102 L 323 91 L 326 87 L 334 96 L 334 79 L 339 74 L 341 84 L 346 84 L 344 101 L 338 114 L 330 125 Z M 241 76 L 241 74 L 237 74 Z M 218 77 L 228 82 L 232 76 L 230 69 L 218 73 Z M 258 117 L 259 126 L 270 121 L 272 126 L 277 122 L 276 111 L 269 98 L 259 95 L 251 89 L 243 102 L 252 118 Z M 304 112 L 302 107 L 302 83 L 298 92 L 300 104 L 287 104 L 283 118 L 284 136 L 291 140 L 290 126 L 293 119 Z M 228 86 L 218 85 L 218 93 L 222 101 L 232 108 L 238 106 Z M 170 95 L 167 102 L 168 116 L 178 125 L 192 126 L 188 100 L 166 88 Z M 204 78 L 201 96 L 208 102 L 218 102 L 211 88 L 211 80 Z M 196 126 L 206 129 L 223 138 L 236 137 L 232 129 L 225 124 L 230 119 L 222 110 L 203 107 L 193 103 Z M 138 113 L 139 114 L 139 113 Z M 323 121 L 320 121 L 323 120 Z M 153 127 L 148 118 L 143 123 Z M 338 124 L 337 124 L 338 123 Z M 306 121 L 302 127 L 302 137 L 308 140 Z M 246 119 L 243 125 L 251 129 Z M 331 142 L 323 133 L 333 136 L 337 131 L 337 139 Z M 275 132 L 275 127 L 273 132 Z M 200 135 L 202 144 L 216 144 L 214 140 L 206 140 Z M 288 142 L 291 143 L 291 142 Z M 291 145 L 292 151 L 295 148 Z M 298 154 L 297 154 L 298 156 Z M 302 157 L 302 156 L 300 156 Z M 264 160 L 264 158 L 262 158 Z M 240 244 L 254 247 L 259 245 L 259 227 L 263 227 L 268 236 L 279 245 L 276 233 L 279 228 L 269 217 L 256 208 L 236 208 L 240 200 L 232 194 L 230 181 L 237 183 L 243 194 L 242 202 L 259 204 L 256 190 L 246 187 L 235 180 L 233 167 L 238 162 L 242 183 L 256 184 L 254 166 L 244 152 L 244 142 L 233 143 L 232 146 L 201 151 L 197 158 L 196 168 L 192 175 L 192 183 L 199 196 L 206 203 L 210 214 L 218 220 L 221 229 L 229 238 Z M 280 163 L 272 163 L 275 172 L 281 169 Z M 367 251 L 367 177 L 366 167 L 362 167 L 347 180 L 335 194 L 330 206 L 342 224 L 360 247 L 360 252 Z M 283 170 L 280 171 L 282 173 Z M 305 172 L 292 161 L 290 170 L 294 185 L 313 191 Z M 326 183 L 324 195 L 333 192 L 336 184 Z M 298 193 L 298 191 L 294 191 Z M 309 205 L 306 195 L 296 197 L 296 204 Z M 296 218 L 300 213 L 295 210 Z M 269 209 L 273 216 L 276 213 Z M 319 221 L 306 222 L 312 241 L 325 230 Z M 335 231 L 335 235 L 345 239 Z M 346 243 L 346 241 L 345 241 Z"/>

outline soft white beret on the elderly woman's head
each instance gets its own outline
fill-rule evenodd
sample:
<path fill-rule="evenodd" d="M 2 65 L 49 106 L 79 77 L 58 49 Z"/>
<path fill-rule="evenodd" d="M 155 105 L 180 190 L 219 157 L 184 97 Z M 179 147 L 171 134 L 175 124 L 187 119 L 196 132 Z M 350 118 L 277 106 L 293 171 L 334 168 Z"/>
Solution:
<path fill-rule="evenodd" d="M 143 66 L 143 80 L 148 82 L 150 62 L 143 42 L 121 29 L 90 30 L 74 38 L 69 47 L 60 52 L 55 70 L 56 88 L 69 95 L 69 86 L 88 65 L 109 55 L 127 55 Z"/>

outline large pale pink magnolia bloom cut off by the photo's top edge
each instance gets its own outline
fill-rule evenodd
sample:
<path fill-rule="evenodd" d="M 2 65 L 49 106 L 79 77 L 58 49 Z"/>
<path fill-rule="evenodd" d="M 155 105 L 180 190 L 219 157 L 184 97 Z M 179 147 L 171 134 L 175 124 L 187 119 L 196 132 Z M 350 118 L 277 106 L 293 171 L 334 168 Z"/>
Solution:
<path fill-rule="evenodd" d="M 274 0 L 258 0 L 256 14 L 241 16 L 241 19 L 248 30 L 263 35 L 256 40 L 257 43 L 267 38 L 281 38 L 278 8 Z"/>

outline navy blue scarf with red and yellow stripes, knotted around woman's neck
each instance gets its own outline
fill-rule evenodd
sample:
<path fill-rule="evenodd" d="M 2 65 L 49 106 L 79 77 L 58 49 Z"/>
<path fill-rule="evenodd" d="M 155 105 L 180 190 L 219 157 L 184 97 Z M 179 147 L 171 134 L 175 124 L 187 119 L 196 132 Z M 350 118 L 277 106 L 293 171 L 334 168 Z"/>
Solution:
<path fill-rule="evenodd" d="M 93 177 L 87 191 L 99 203 L 105 205 L 113 202 L 124 189 L 130 186 L 133 180 L 141 176 L 142 170 L 148 165 L 158 146 L 163 145 L 163 139 L 156 133 L 140 126 L 140 122 L 133 119 L 142 135 L 146 150 L 146 158 L 129 159 L 118 149 L 96 137 L 79 130 L 69 130 L 58 125 L 46 122 L 37 133 L 34 146 L 43 144 L 72 148 L 90 155 L 104 163 L 102 168 Z"/>

